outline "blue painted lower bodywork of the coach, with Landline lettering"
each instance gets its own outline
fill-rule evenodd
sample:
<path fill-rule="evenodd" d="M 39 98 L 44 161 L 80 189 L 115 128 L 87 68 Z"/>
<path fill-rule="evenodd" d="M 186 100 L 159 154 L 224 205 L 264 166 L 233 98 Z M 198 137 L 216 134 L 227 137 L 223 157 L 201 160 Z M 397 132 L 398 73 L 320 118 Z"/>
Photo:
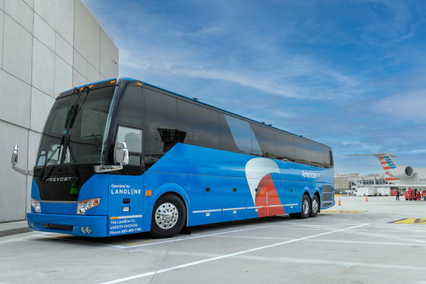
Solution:
<path fill-rule="evenodd" d="M 322 198 L 323 185 L 333 187 L 332 169 L 178 143 L 141 176 L 97 174 L 90 178 L 82 186 L 79 201 L 94 197 L 101 197 L 102 201 L 85 216 L 76 215 L 77 203 L 40 202 L 43 213 L 30 213 L 28 220 L 36 218 L 38 224 L 50 222 L 75 228 L 98 222 L 96 226 L 103 229 L 97 229 L 91 236 L 150 231 L 154 204 L 166 192 L 175 192 L 185 202 L 188 226 L 256 218 L 261 216 L 258 209 L 265 212 L 268 207 L 259 201 L 263 190 L 256 192 L 262 182 L 267 185 L 264 190 L 270 193 L 269 204 L 275 202 L 273 206 L 282 210 L 269 208 L 269 214 L 296 213 L 301 211 L 305 192 L 310 197 L 319 192 Z M 151 190 L 152 195 L 146 196 L 146 190 Z M 35 182 L 31 197 L 40 200 Z M 124 199 L 130 203 L 124 204 Z M 130 209 L 124 212 L 123 207 Z M 84 223 L 85 218 L 90 221 Z M 138 231 L 111 230 L 114 224 L 123 224 L 111 223 L 117 218 L 130 220 L 123 222 L 136 224 Z M 37 225 L 37 230 L 84 235 L 78 229 L 60 231 Z"/>

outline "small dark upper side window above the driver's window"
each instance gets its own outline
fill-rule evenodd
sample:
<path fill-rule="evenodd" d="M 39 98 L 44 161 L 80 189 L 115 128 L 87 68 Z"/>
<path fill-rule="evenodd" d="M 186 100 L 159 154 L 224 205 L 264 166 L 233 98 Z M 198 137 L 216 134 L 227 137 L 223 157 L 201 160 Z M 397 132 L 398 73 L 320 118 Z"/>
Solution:
<path fill-rule="evenodd" d="M 120 123 L 143 127 L 142 88 L 131 86 L 126 89 L 121 99 Z"/>

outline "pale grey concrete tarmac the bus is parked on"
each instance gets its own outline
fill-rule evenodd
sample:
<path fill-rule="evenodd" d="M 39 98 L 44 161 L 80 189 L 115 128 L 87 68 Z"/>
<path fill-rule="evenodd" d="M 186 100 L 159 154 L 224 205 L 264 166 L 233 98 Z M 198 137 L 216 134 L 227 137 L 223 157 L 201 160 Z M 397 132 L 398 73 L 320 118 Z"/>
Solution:
<path fill-rule="evenodd" d="M 0 238 L 0 284 L 423 283 L 426 202 L 341 197 L 316 218 L 288 215 L 94 239 Z"/>

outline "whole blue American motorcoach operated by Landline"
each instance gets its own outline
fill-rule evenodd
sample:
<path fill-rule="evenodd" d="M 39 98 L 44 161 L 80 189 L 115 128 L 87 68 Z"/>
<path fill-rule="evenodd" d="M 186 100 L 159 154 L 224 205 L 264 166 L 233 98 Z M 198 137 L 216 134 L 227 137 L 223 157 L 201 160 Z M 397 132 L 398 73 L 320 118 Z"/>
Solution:
<path fill-rule="evenodd" d="M 175 236 L 190 226 L 334 205 L 332 149 L 146 82 L 62 92 L 33 175 L 34 231 Z"/>

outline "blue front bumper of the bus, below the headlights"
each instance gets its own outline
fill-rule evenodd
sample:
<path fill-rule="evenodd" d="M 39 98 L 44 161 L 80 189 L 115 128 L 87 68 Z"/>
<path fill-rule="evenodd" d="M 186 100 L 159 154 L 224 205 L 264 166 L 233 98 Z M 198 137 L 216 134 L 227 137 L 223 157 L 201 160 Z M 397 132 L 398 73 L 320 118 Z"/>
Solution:
<path fill-rule="evenodd" d="M 30 226 L 33 231 L 45 231 L 75 236 L 108 236 L 107 216 L 27 213 L 27 221 L 28 226 L 29 224 L 35 226 L 35 228 Z M 86 228 L 89 228 L 89 230 Z M 88 231 L 92 231 L 92 233 L 90 234 Z"/>

